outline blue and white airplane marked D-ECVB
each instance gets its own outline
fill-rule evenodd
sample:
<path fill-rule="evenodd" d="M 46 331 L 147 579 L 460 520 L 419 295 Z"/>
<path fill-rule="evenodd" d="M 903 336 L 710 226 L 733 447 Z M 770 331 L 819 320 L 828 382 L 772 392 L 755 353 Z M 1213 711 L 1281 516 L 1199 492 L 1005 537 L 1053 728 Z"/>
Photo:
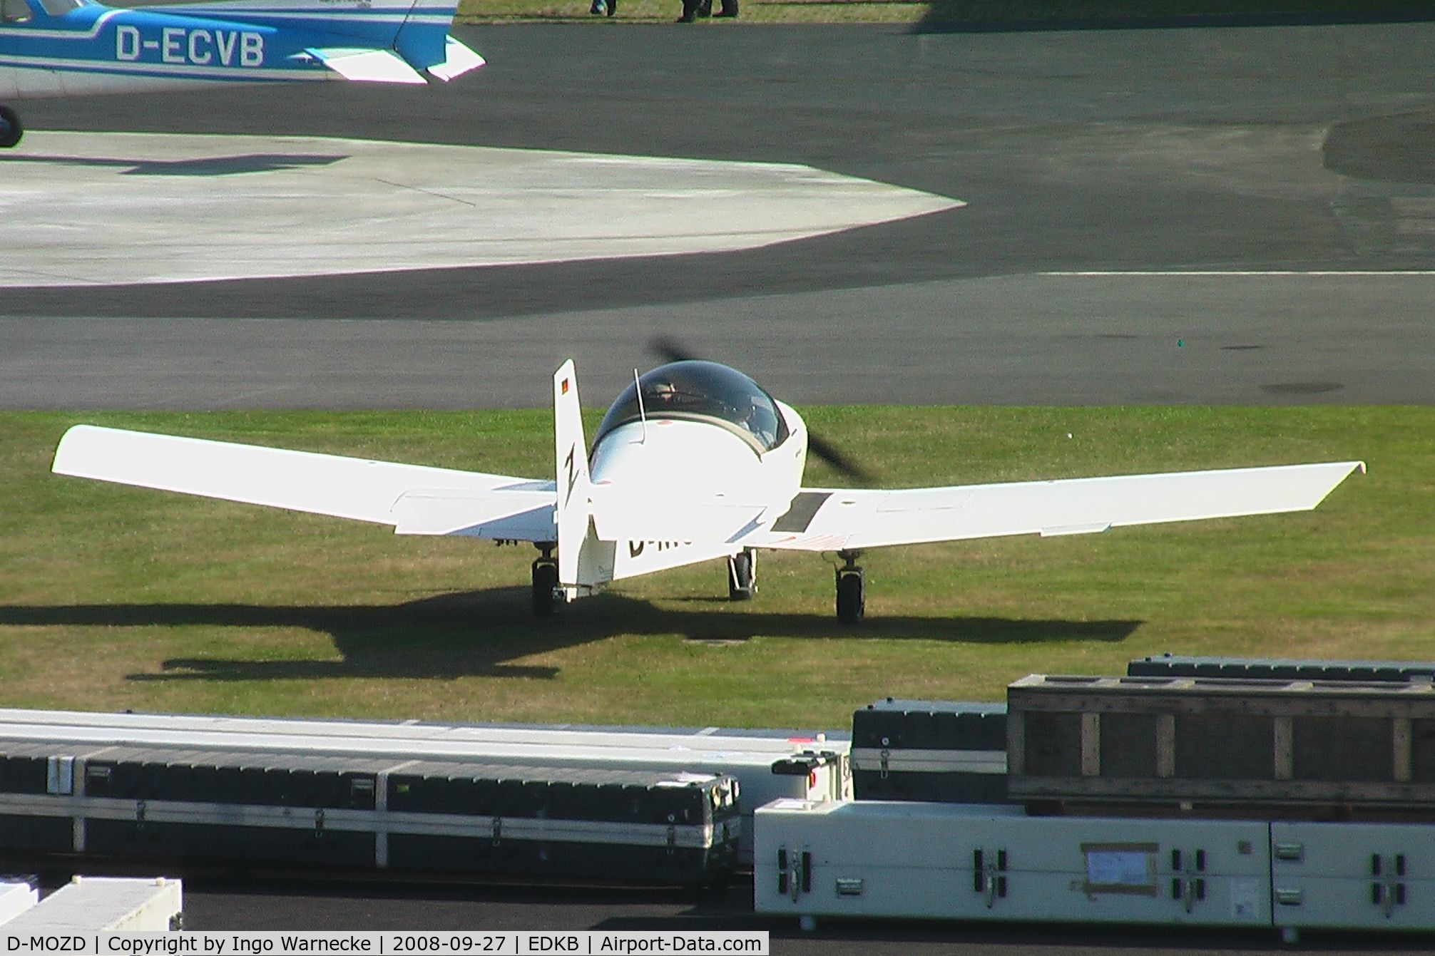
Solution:
<path fill-rule="evenodd" d="M 0 0 L 0 148 L 7 99 L 179 85 L 451 80 L 484 59 L 448 34 L 456 0 L 221 0 L 145 9 Z"/>

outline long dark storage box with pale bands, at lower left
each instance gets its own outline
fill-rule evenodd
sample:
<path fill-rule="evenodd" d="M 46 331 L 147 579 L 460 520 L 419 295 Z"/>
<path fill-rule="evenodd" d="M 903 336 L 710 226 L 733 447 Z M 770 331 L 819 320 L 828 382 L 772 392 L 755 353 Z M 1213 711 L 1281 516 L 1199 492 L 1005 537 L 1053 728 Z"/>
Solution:
<path fill-rule="evenodd" d="M 742 824 L 725 775 L 53 750 L 0 740 L 0 854 L 703 884 L 732 871 Z"/>

